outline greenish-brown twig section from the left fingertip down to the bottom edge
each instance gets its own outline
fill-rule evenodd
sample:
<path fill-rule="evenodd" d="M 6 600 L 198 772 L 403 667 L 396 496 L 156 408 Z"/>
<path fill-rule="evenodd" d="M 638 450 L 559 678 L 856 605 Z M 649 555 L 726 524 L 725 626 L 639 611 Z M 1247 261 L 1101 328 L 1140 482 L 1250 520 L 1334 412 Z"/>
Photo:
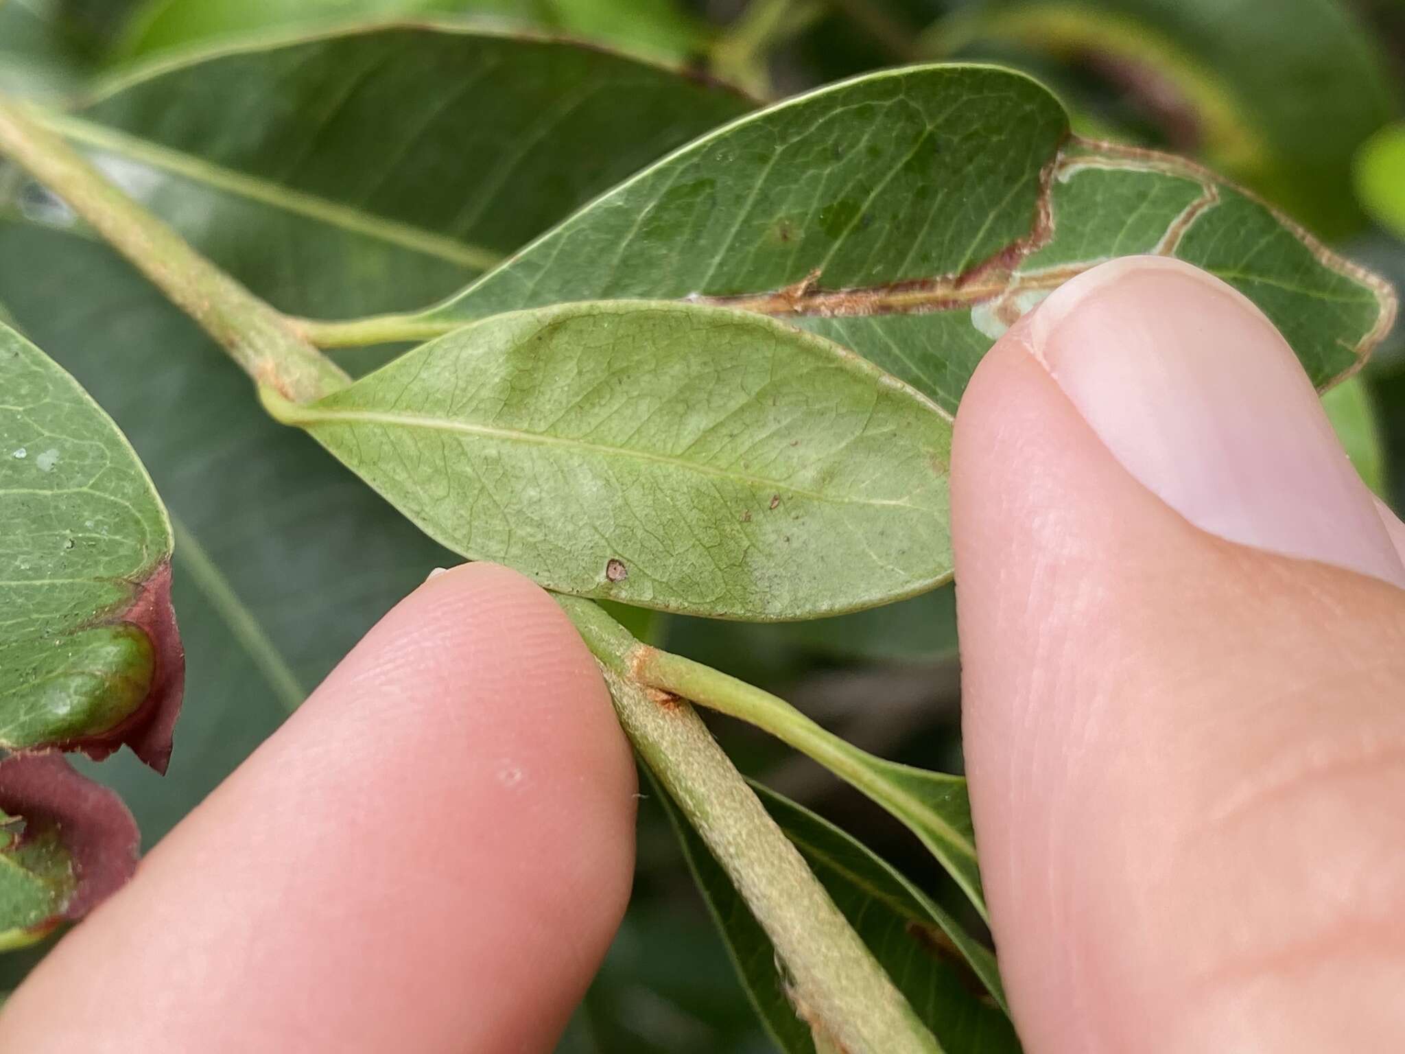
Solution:
<path fill-rule="evenodd" d="M 697 713 L 639 683 L 638 656 L 653 649 L 589 600 L 556 600 L 596 655 L 635 749 L 770 937 L 816 1036 L 853 1054 L 940 1051 Z"/>

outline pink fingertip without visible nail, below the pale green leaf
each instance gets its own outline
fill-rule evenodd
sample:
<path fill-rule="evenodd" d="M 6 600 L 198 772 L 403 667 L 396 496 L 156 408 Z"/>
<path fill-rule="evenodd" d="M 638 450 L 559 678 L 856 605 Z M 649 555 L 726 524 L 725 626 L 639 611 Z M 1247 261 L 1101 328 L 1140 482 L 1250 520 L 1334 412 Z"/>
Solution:
<path fill-rule="evenodd" d="M 624 912 L 634 791 L 558 604 L 500 566 L 437 575 L 55 949 L 0 1036 L 547 1051 Z"/>

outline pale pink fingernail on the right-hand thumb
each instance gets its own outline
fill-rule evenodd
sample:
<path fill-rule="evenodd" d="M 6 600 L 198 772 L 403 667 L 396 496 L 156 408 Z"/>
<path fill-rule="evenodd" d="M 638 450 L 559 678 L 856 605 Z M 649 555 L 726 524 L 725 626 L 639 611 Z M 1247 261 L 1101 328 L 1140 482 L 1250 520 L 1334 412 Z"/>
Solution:
<path fill-rule="evenodd" d="M 1405 585 L 1297 356 L 1243 295 L 1128 257 L 1059 287 L 1030 350 L 1113 455 L 1197 527 Z"/>

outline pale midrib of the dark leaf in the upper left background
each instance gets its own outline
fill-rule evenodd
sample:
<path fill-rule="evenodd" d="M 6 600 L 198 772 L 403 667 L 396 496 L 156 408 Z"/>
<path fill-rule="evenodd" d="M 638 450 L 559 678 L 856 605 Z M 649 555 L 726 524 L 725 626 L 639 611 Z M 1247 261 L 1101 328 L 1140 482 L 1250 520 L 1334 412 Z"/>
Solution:
<path fill-rule="evenodd" d="M 163 171 L 181 176 L 247 201 L 270 205 L 291 215 L 315 219 L 329 226 L 364 235 L 367 238 L 395 245 L 445 263 L 468 267 L 475 271 L 489 271 L 506 259 L 483 246 L 469 245 L 454 238 L 436 235 L 412 223 L 385 219 L 337 201 L 306 194 L 289 187 L 226 169 L 181 150 L 160 146 L 149 139 L 119 132 L 107 125 L 94 124 L 79 117 L 39 114 L 41 121 L 52 131 L 66 138 L 108 153 L 121 155 Z"/>

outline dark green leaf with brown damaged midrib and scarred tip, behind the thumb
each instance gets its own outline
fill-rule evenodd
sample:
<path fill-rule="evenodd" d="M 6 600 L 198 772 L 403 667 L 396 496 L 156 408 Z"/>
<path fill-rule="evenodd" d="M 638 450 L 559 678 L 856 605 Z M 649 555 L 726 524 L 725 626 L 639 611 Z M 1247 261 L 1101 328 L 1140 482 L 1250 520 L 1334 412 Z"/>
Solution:
<path fill-rule="evenodd" d="M 947 409 L 991 343 L 1114 256 L 1218 274 L 1329 385 L 1392 294 L 1203 169 L 1069 138 L 1033 80 L 877 73 L 711 132 L 414 319 L 450 327 L 562 301 L 688 298 L 832 337 Z"/>

